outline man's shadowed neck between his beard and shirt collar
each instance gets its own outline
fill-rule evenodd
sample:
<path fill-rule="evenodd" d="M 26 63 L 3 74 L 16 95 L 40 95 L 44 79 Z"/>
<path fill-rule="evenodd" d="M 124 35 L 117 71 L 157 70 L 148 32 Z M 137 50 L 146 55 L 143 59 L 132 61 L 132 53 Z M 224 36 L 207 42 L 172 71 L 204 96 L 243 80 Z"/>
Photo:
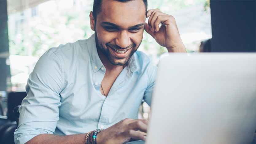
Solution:
<path fill-rule="evenodd" d="M 108 70 L 120 70 L 120 69 L 122 69 L 123 70 L 123 68 L 126 66 L 126 65 L 124 65 L 124 66 L 115 66 L 115 65 L 113 65 L 112 63 L 110 63 L 110 61 L 108 60 L 108 58 L 106 57 L 106 55 L 104 55 L 103 53 L 102 53 L 102 51 L 101 50 L 99 50 L 98 48 L 97 48 L 97 52 L 98 52 L 98 55 L 99 55 L 99 59 L 101 60 L 101 62 L 103 63 L 103 65 L 105 66 L 105 68 L 106 68 L 106 71 L 108 71 Z"/>

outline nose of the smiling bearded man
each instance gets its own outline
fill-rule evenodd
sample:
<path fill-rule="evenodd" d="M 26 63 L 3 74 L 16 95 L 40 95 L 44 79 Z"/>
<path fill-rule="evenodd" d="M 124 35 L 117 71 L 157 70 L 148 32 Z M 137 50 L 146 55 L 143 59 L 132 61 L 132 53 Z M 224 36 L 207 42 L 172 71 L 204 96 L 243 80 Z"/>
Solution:
<path fill-rule="evenodd" d="M 126 48 L 131 44 L 130 36 L 126 31 L 121 31 L 117 36 L 117 38 L 115 39 L 115 43 L 119 47 Z"/>

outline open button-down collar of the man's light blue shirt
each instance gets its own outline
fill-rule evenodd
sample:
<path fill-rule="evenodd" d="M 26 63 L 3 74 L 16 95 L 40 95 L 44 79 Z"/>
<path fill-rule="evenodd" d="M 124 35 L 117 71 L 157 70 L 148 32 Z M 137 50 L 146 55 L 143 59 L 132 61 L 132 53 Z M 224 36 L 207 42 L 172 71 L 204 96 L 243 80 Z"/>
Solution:
<path fill-rule="evenodd" d="M 102 66 L 103 63 L 101 62 L 98 51 L 96 48 L 96 42 L 95 42 L 95 34 L 93 34 L 87 41 L 87 47 L 91 59 L 91 67 L 94 73 L 96 73 Z M 128 65 L 130 66 L 131 70 L 133 72 L 138 71 L 138 66 L 135 58 L 135 53 L 131 56 Z M 104 67 L 104 66 L 103 66 Z M 105 69 L 105 67 L 104 67 Z"/>

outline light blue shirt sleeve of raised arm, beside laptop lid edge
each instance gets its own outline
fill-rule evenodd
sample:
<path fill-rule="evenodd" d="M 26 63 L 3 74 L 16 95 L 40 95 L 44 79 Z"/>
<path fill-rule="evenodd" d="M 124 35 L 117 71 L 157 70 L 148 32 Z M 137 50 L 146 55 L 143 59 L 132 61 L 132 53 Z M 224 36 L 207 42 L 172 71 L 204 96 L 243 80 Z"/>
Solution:
<path fill-rule="evenodd" d="M 153 64 L 148 66 L 146 70 L 147 77 L 148 77 L 148 86 L 147 86 L 147 89 L 145 90 L 143 100 L 145 100 L 145 102 L 149 106 L 151 106 L 151 98 L 152 98 L 152 93 L 155 85 L 155 80 L 157 77 L 157 70 L 158 68 L 156 66 L 153 66 Z"/>

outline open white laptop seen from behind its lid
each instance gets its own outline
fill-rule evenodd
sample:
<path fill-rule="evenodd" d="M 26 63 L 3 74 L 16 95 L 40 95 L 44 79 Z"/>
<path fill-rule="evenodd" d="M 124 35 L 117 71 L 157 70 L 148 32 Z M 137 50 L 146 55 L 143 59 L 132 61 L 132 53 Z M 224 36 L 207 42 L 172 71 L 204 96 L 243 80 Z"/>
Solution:
<path fill-rule="evenodd" d="M 251 144 L 256 53 L 170 54 L 151 108 L 146 144 Z"/>

